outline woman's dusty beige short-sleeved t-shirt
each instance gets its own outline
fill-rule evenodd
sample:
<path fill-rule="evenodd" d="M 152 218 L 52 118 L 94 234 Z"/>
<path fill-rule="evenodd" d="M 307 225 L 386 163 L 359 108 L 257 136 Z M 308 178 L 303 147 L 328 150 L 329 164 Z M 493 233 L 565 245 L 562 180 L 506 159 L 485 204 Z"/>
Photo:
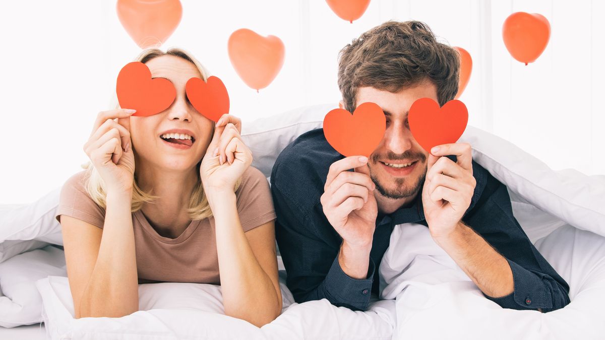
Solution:
<path fill-rule="evenodd" d="M 68 215 L 103 228 L 105 209 L 87 194 L 85 174 L 78 172 L 65 182 L 56 218 Z M 244 232 L 275 220 L 269 183 L 258 169 L 246 169 L 235 194 Z M 140 210 L 132 213 L 132 227 L 139 283 L 220 284 L 214 217 L 191 221 L 177 238 L 159 235 Z"/>

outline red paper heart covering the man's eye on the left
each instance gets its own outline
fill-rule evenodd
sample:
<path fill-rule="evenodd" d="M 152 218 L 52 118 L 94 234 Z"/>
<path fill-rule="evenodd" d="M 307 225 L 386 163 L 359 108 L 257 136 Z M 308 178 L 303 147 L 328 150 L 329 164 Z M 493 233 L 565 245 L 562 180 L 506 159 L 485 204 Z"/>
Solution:
<path fill-rule="evenodd" d="M 344 109 L 334 109 L 324 117 L 325 139 L 345 157 L 369 157 L 380 144 L 387 119 L 380 106 L 362 103 L 353 115 Z"/>

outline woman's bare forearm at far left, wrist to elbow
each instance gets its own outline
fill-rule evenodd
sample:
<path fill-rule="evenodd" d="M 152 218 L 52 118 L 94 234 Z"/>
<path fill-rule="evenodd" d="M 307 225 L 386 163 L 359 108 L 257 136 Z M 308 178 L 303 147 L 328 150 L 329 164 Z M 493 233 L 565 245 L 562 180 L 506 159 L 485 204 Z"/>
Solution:
<path fill-rule="evenodd" d="M 120 317 L 139 310 L 131 198 L 131 192 L 106 196 L 99 255 L 80 299 L 79 317 Z"/>

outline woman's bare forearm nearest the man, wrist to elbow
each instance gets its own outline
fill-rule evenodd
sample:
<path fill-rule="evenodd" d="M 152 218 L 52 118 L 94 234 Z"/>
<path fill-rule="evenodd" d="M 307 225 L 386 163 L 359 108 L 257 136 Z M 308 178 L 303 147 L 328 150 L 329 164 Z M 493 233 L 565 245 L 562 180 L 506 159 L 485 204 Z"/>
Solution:
<path fill-rule="evenodd" d="M 261 327 L 280 315 L 280 299 L 244 234 L 236 203 L 234 192 L 212 197 L 224 310 Z"/>

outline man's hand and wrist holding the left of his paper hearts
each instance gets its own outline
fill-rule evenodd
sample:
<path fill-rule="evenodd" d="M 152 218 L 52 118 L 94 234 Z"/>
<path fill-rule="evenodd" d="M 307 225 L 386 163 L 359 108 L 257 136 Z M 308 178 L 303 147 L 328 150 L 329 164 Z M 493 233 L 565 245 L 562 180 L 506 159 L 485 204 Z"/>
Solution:
<path fill-rule="evenodd" d="M 350 156 L 334 162 L 321 195 L 325 217 L 342 237 L 339 253 L 342 270 L 359 279 L 367 276 L 378 214 L 374 198 L 376 186 L 370 178 L 367 161 L 367 157 Z"/>

